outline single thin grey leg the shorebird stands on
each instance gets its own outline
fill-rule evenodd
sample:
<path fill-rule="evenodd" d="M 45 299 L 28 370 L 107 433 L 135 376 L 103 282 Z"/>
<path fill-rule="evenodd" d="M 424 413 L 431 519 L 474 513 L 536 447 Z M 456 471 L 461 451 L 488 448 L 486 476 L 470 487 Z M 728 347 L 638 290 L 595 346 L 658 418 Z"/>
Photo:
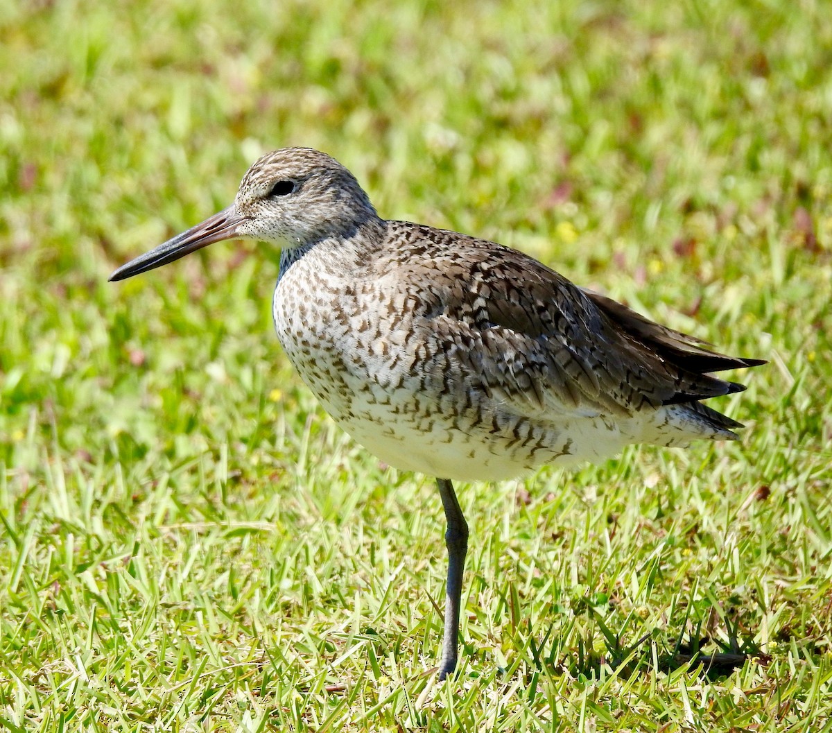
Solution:
<path fill-rule="evenodd" d="M 457 642 L 459 636 L 459 606 L 463 594 L 463 570 L 465 553 L 468 552 L 468 523 L 459 508 L 453 484 L 447 478 L 437 478 L 439 495 L 445 508 L 448 529 L 445 532 L 445 546 L 448 547 L 448 582 L 445 592 L 445 629 L 442 639 L 442 661 L 439 664 L 439 679 L 444 680 L 457 666 Z"/>

